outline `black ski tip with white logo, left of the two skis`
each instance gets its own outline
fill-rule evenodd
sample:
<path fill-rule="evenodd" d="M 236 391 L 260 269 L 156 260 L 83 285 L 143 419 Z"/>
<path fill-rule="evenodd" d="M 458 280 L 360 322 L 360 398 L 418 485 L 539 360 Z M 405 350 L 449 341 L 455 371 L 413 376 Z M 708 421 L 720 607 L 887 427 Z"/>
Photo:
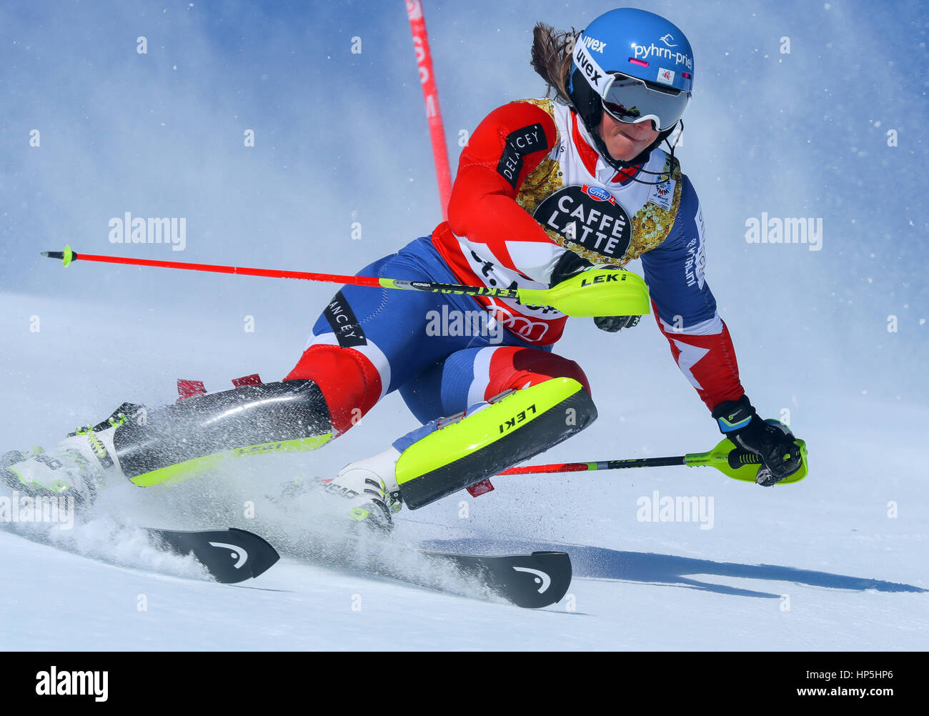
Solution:
<path fill-rule="evenodd" d="M 244 529 L 208 529 L 194 532 L 143 527 L 170 552 L 193 553 L 216 581 L 235 584 L 264 574 L 281 555 L 266 540 Z"/>

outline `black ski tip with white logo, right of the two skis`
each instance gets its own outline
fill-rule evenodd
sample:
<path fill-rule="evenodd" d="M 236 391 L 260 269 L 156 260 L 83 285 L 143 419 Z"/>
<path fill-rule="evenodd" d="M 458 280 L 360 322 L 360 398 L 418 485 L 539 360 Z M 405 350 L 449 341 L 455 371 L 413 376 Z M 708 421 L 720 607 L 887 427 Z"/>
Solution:
<path fill-rule="evenodd" d="M 478 579 L 514 605 L 530 609 L 554 605 L 568 592 L 571 560 L 564 552 L 479 556 L 421 550 L 425 557 L 449 563 L 464 577 Z"/>

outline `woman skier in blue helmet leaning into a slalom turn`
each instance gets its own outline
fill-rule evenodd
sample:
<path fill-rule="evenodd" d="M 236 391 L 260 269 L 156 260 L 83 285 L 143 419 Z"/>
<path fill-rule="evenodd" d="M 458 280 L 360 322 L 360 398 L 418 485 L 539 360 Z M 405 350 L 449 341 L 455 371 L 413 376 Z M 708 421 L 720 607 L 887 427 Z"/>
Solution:
<path fill-rule="evenodd" d="M 546 98 L 491 111 L 462 151 L 449 220 L 360 275 L 544 289 L 641 258 L 659 329 L 720 431 L 761 457 L 759 484 L 792 475 L 802 460 L 794 436 L 760 418 L 739 381 L 704 278 L 700 202 L 669 139 L 693 88 L 687 37 L 632 8 L 582 33 L 540 23 L 533 34 Z M 484 330 L 436 330 L 439 318 L 463 325 L 475 315 Z M 415 509 L 470 487 L 595 420 L 581 366 L 553 352 L 566 320 L 498 297 L 346 286 L 281 382 L 195 387 L 145 421 L 124 404 L 55 454 L 8 453 L 0 467 L 14 487 L 92 500 L 113 475 L 147 485 L 220 454 L 320 447 L 399 390 L 423 426 L 321 480 L 337 512 L 389 526 L 402 503 Z M 606 332 L 637 322 L 595 319 Z"/>

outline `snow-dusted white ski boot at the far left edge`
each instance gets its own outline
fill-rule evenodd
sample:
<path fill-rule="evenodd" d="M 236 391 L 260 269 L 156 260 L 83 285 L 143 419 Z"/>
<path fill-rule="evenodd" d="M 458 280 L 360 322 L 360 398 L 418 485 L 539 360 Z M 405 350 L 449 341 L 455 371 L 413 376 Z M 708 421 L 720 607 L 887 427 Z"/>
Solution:
<path fill-rule="evenodd" d="M 102 423 L 77 428 L 52 452 L 7 452 L 0 458 L 0 481 L 33 498 L 72 497 L 75 506 L 93 504 L 105 477 L 122 475 L 112 457 L 113 433 L 137 410 L 137 405 L 124 403 Z"/>

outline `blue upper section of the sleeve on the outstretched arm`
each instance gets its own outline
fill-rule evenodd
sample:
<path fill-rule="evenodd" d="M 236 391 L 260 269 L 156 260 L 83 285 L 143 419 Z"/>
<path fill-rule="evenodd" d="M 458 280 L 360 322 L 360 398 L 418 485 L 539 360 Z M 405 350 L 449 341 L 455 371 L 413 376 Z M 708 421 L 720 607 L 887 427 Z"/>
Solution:
<path fill-rule="evenodd" d="M 658 318 L 668 330 L 718 332 L 716 299 L 703 278 L 706 259 L 700 200 L 687 176 L 682 175 L 681 182 L 681 202 L 671 233 L 641 256 L 645 280 Z"/>

